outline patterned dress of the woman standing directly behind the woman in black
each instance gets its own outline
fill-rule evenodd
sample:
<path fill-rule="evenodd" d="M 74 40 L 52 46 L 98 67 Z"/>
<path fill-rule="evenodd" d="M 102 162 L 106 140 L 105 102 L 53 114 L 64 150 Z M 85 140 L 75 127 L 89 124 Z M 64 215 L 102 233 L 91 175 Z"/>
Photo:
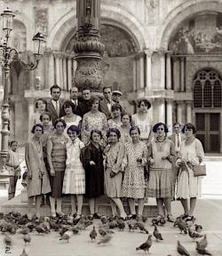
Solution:
<path fill-rule="evenodd" d="M 91 111 L 83 116 L 82 140 L 85 145 L 90 142 L 91 130 L 98 129 L 100 132 L 107 131 L 107 117 L 102 112 L 92 113 Z"/>

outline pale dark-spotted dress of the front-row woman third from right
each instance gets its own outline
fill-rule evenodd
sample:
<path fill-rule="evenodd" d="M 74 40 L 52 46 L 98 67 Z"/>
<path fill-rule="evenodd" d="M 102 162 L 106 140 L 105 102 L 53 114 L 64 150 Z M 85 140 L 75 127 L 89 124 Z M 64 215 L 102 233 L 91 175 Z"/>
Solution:
<path fill-rule="evenodd" d="M 141 164 L 137 162 L 138 158 L 142 159 Z M 125 144 L 125 152 L 123 157 L 123 166 L 125 166 L 123 196 L 131 198 L 144 198 L 146 188 L 144 165 L 146 163 L 147 145 L 144 142 L 128 142 Z"/>

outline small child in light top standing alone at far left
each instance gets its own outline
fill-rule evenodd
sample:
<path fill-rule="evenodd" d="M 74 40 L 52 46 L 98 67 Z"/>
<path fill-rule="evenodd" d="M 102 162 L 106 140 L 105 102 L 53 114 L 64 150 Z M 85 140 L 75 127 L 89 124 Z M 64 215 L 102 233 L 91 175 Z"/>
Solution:
<path fill-rule="evenodd" d="M 18 142 L 11 141 L 11 149 L 8 152 L 8 155 L 5 159 L 5 165 L 9 172 L 9 190 L 8 190 L 8 199 L 12 199 L 15 195 L 16 184 L 18 178 L 20 179 L 20 155 L 17 152 Z"/>

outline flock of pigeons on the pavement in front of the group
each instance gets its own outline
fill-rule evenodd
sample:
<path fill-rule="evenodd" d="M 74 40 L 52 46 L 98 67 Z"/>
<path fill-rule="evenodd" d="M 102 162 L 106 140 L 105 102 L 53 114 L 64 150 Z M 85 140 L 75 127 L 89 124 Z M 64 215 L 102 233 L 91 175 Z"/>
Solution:
<path fill-rule="evenodd" d="M 65 240 L 67 243 L 72 236 L 75 236 L 75 234 L 78 234 L 81 230 L 86 229 L 89 226 L 92 226 L 92 229 L 90 229 L 91 231 L 89 230 L 91 241 L 97 244 L 109 244 L 115 234 L 115 229 L 119 229 L 121 231 L 125 229 L 130 232 L 138 229 L 139 232 L 149 234 L 149 231 L 146 228 L 146 217 L 125 221 L 118 216 L 115 218 L 102 216 L 100 221 L 99 227 L 95 227 L 93 226 L 93 221 L 88 220 L 86 216 L 82 216 L 76 223 L 73 217 L 67 215 L 58 216 L 56 218 L 45 216 L 40 219 L 34 218 L 33 220 L 28 220 L 27 215 L 22 216 L 18 212 L 10 212 L 7 214 L 0 212 L 0 230 L 2 234 L 4 234 L 4 244 L 6 248 L 10 249 L 12 246 L 13 234 L 17 233 L 23 235 L 25 246 L 20 256 L 28 256 L 25 248 L 26 245 L 31 243 L 31 233 L 33 230 L 36 230 L 38 234 L 50 234 L 52 230 L 57 231 L 60 236 L 59 240 Z M 153 236 L 155 237 L 153 239 L 157 242 L 163 241 L 163 236 L 158 229 L 158 224 L 164 225 L 164 223 L 156 223 L 155 219 L 152 222 L 154 228 L 151 233 L 153 235 L 149 234 L 147 241 L 136 247 L 136 251 L 142 250 L 145 253 L 149 253 L 149 249 L 153 244 Z M 201 240 L 196 241 L 196 251 L 200 255 L 211 255 L 211 253 L 206 250 L 208 240 L 206 235 L 202 235 L 201 225 L 194 225 L 194 220 L 186 222 L 186 220 L 183 220 L 181 215 L 174 222 L 173 226 L 178 227 L 180 233 L 187 234 L 194 241 L 195 239 L 201 238 Z M 177 252 L 179 255 L 190 255 L 179 241 L 177 245 Z M 170 254 L 168 256 L 170 256 Z"/>

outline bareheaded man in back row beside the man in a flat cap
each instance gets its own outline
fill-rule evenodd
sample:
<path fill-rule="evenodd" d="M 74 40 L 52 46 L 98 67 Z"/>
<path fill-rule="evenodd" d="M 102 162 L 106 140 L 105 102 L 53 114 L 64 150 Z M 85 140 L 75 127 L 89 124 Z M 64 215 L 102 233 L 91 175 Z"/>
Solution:
<path fill-rule="evenodd" d="M 112 106 L 115 101 L 112 100 L 112 89 L 111 87 L 104 86 L 102 89 L 104 98 L 100 100 L 100 111 L 107 116 L 107 120 L 112 118 Z"/>

